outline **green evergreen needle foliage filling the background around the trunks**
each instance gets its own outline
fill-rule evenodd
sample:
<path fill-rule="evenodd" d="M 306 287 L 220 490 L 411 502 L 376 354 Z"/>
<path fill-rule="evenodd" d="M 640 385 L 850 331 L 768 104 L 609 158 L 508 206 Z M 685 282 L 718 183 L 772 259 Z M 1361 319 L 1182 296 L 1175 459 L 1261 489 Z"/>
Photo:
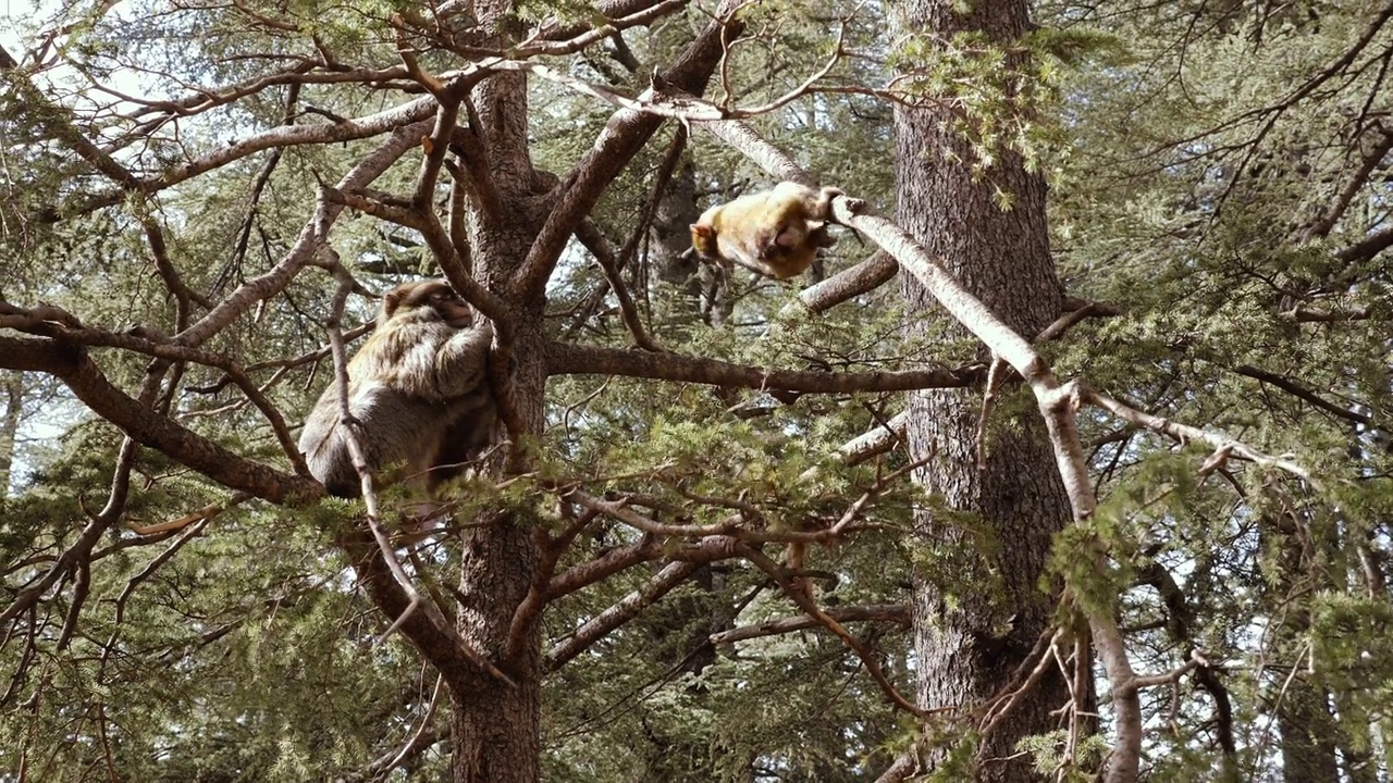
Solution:
<path fill-rule="evenodd" d="M 652 4 L 606 7 L 617 6 Z M 529 0 L 497 25 L 598 25 L 598 8 Z M 14 316 L 0 320 L 0 339 L 61 343 L 59 322 L 20 318 L 61 308 L 107 336 L 61 344 L 81 346 L 113 386 L 141 397 L 156 378 L 145 407 L 291 474 L 265 411 L 227 368 L 245 369 L 298 425 L 332 375 L 323 322 L 333 279 L 306 269 L 198 347 L 223 364 L 166 361 L 123 339 L 167 344 L 274 272 L 325 187 L 386 137 L 267 144 L 198 171 L 191 162 L 258 134 L 345 125 L 421 99 L 423 88 L 394 71 L 398 39 L 428 29 L 435 11 L 318 0 L 14 10 L 0 29 L 0 305 L 13 305 L 0 316 Z M 715 13 L 692 3 L 535 61 L 634 96 Z M 992 183 L 1009 152 L 1045 176 L 1068 293 L 1120 312 L 1039 344 L 1056 373 L 1087 376 L 1139 410 L 1229 433 L 1309 472 L 1297 479 L 1216 460 L 1206 444 L 1081 411 L 1100 504 L 1057 536 L 1041 585 L 1077 602 L 1059 612 L 1070 630 L 1060 649 L 1074 641 L 1075 610 L 1096 609 L 1117 616 L 1134 669 L 1178 672 L 1142 690 L 1146 780 L 1389 780 L 1393 7 L 1059 0 L 1036 3 L 1039 29 L 1010 49 L 972 35 L 887 40 L 892 13 L 756 3 L 705 98 L 726 109 L 768 104 L 836 57 L 805 95 L 748 120 L 823 184 L 886 213 L 896 104 L 954 109 L 953 130 L 972 157 L 931 166 L 970 166 Z M 458 45 L 475 60 L 436 49 L 421 65 L 456 72 L 492 56 Z M 286 75 L 297 72 L 316 78 Z M 277 77 L 258 84 L 269 74 Z M 613 132 L 614 107 L 564 84 L 532 78 L 528 100 L 539 171 L 564 174 Z M 690 213 L 676 219 L 681 234 L 703 208 L 768 185 L 738 152 L 680 125 L 664 125 L 589 212 L 623 251 L 618 279 L 664 348 L 761 371 L 979 364 L 975 341 L 939 339 L 946 315 L 907 339 L 907 318 L 937 316 L 907 316 L 893 283 L 815 315 L 794 288 L 738 270 L 729 280 L 709 269 L 683 284 L 664 277 L 680 259 L 663 247 L 671 226 L 656 213 Z M 155 184 L 116 181 L 75 138 Z M 691 169 L 664 180 L 669 150 L 683 145 Z M 394 163 L 369 195 L 411 194 L 421 157 Z M 662 203 L 683 177 L 691 198 Z M 436 206 L 450 198 L 442 183 Z M 1010 191 L 996 195 L 1014 208 Z M 566 248 L 547 283 L 546 334 L 631 347 L 613 283 L 582 244 Z M 362 293 L 442 273 L 419 231 L 364 210 L 337 220 L 333 249 L 361 284 L 345 330 L 373 318 L 376 302 Z M 840 231 L 823 276 L 872 249 Z M 192 302 L 170 290 L 164 268 Z M 726 318 L 712 315 L 712 287 Z M 17 344 L 0 344 L 0 780 L 450 779 L 450 697 L 407 638 L 380 639 L 393 617 L 341 546 L 362 506 L 245 502 L 156 449 L 131 451 L 121 429 L 53 373 L 21 369 L 18 350 L 7 357 Z M 779 534 L 825 531 L 847 515 L 853 532 L 811 545 L 807 574 L 829 613 L 900 612 L 843 624 L 912 699 L 921 662 L 910 628 L 933 617 L 911 617 L 911 573 L 949 602 L 999 596 L 1000 567 L 968 578 L 978 571 L 965 564 L 995 564 L 1015 542 L 898 475 L 914 461 L 905 446 L 861 464 L 837 456 L 887 428 L 903 392 L 809 393 L 793 404 L 773 392 L 605 368 L 554 375 L 545 426 L 527 442 L 528 470 L 457 482 L 456 518 L 507 511 L 507 524 L 556 541 L 585 513 L 563 500 L 579 488 L 621 496 L 660 525 L 772 534 L 758 549 L 777 560 Z M 1000 428 L 1035 415 L 1031 403 L 1018 387 L 1002 392 L 988 449 Z M 114 475 L 130 488 L 113 489 Z M 389 490 L 383 502 L 400 510 L 412 500 Z M 226 510 L 182 529 L 131 529 L 209 503 Z M 917 509 L 968 543 L 915 536 Z M 95 541 L 84 548 L 88 531 Z M 692 549 L 691 536 L 612 514 L 574 535 L 559 578 L 649 545 L 656 553 L 556 596 L 542 614 L 545 780 L 869 782 L 914 743 L 950 750 L 932 776 L 919 770 L 924 779 L 979 773 L 981 727 L 956 720 L 979 705 L 928 705 L 963 709 L 915 720 L 822 626 L 723 639 L 801 614 L 745 557 L 702 564 L 630 621 L 560 655 Z M 465 559 L 457 536 L 428 543 L 414 564 L 418 587 L 449 606 L 486 600 L 461 588 Z M 1077 747 L 1067 731 L 1024 741 L 1041 776 L 1087 780 L 1105 763 L 1112 705 L 1095 677 L 1102 734 Z"/>

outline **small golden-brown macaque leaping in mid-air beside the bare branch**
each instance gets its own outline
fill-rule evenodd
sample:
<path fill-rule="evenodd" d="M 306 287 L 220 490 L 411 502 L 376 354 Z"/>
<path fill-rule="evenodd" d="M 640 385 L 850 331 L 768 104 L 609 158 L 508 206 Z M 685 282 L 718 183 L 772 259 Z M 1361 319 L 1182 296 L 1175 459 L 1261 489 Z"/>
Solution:
<path fill-rule="evenodd" d="M 779 280 L 812 266 L 827 233 L 840 188 L 779 183 L 773 189 L 713 206 L 692 223 L 692 248 L 706 261 L 733 262 Z"/>

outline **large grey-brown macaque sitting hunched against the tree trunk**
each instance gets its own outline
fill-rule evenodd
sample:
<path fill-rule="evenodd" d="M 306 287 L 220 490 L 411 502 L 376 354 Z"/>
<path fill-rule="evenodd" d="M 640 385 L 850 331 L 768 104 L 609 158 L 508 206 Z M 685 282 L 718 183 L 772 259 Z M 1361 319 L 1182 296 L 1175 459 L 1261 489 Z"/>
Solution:
<path fill-rule="evenodd" d="M 330 383 L 305 421 L 299 450 L 309 472 L 330 495 L 362 495 L 345 437 L 345 428 L 357 426 L 378 481 L 408 481 L 433 493 L 492 442 L 492 341 L 489 322 L 444 280 L 389 291 L 372 336 L 348 362 L 351 418 L 344 419 L 338 386 Z"/>

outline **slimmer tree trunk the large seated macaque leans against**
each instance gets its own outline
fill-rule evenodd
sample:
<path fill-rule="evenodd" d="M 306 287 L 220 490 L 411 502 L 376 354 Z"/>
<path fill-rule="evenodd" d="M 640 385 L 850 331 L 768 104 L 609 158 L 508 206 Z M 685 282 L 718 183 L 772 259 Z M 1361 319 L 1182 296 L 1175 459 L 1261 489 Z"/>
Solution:
<path fill-rule="evenodd" d="M 479 22 L 493 29 L 493 45 L 506 47 L 518 28 L 511 0 L 481 0 Z M 540 230 L 543 205 L 536 192 L 528 152 L 528 92 L 522 74 L 495 74 L 476 86 L 471 99 L 479 123 L 488 167 L 497 191 L 499 215 L 483 216 L 469 205 L 468 248 L 475 277 L 503 293 L 527 258 Z M 462 113 L 461 113 L 461 123 Z M 517 414 L 525 433 L 542 432 L 546 337 L 542 333 L 545 295 L 508 301 L 514 325 L 513 383 Z M 496 457 L 496 464 L 500 456 Z M 535 783 L 540 780 L 540 624 L 525 630 L 520 653 L 501 660 L 513 614 L 527 596 L 539 552 L 532 525 L 511 513 L 485 510 L 462 534 L 458 612 L 460 634 L 500 663 L 515 687 L 478 672 L 471 687 L 451 694 L 451 772 L 454 783 Z"/>

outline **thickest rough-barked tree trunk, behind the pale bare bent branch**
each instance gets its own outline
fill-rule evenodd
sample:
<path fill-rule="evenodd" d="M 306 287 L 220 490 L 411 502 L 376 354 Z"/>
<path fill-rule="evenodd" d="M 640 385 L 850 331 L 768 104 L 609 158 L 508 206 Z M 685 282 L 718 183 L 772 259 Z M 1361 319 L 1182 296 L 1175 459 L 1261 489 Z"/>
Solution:
<path fill-rule="evenodd" d="M 953 13 L 953 6 L 951 0 L 908 0 L 901 6 L 903 24 L 911 32 L 943 38 L 982 31 L 996 42 L 1014 40 L 1028 29 L 1024 0 L 981 0 L 968 15 Z M 1061 307 L 1045 226 L 1045 183 L 1028 174 L 1014 153 L 1004 153 L 983 181 L 974 183 L 968 166 L 954 162 L 971 162 L 974 153 L 946 127 L 950 121 L 944 111 L 896 110 L 898 222 L 970 291 L 1032 337 Z M 1007 212 L 996 203 L 997 187 L 1015 198 Z M 914 277 L 901 274 L 901 284 L 911 336 L 946 318 Z M 957 327 L 947 334 L 964 337 Z M 925 708 L 974 705 L 996 692 L 1049 623 L 1039 575 L 1050 536 L 1070 518 L 1068 499 L 1035 405 L 1015 404 L 1025 394 L 1018 387 L 1000 394 L 988 426 L 985 470 L 976 467 L 981 392 L 929 392 L 910 404 L 911 450 L 932 456 L 917 479 L 950 509 L 979 517 L 999 546 L 979 546 L 981 536 L 964 534 L 961 524 L 931 510 L 918 514 L 922 545 L 951 553 L 932 573 L 926 568 L 915 585 L 918 699 Z M 947 584 L 944 571 L 971 577 Z M 986 584 L 1000 589 L 983 589 Z M 1021 737 L 1059 727 L 1049 712 L 1067 698 L 1063 680 L 1052 673 L 988 738 L 978 779 L 1035 780 L 1028 758 L 1003 759 L 1015 754 Z M 937 759 L 931 755 L 928 761 Z"/>

